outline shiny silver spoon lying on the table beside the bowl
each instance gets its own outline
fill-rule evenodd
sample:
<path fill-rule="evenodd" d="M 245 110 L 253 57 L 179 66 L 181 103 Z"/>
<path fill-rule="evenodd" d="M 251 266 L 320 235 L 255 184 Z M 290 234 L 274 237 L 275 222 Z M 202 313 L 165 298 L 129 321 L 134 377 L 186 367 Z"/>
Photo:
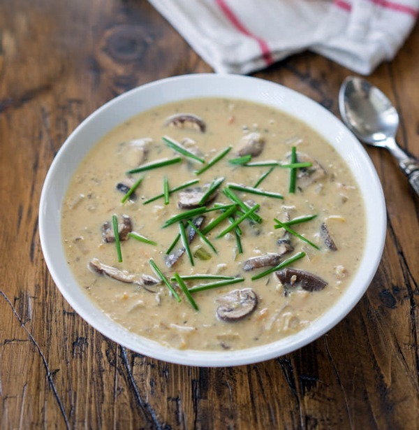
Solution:
<path fill-rule="evenodd" d="M 342 120 L 360 141 L 387 148 L 419 196 L 419 160 L 397 145 L 399 115 L 391 101 L 367 80 L 348 76 L 339 90 Z"/>

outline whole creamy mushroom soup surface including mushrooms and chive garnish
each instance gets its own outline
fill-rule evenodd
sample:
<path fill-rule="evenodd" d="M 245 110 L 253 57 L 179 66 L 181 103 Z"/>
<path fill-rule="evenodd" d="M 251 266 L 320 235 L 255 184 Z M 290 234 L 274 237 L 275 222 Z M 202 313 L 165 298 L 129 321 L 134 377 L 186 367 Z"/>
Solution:
<path fill-rule="evenodd" d="M 351 282 L 365 213 L 334 148 L 239 99 L 188 99 L 98 142 L 68 188 L 69 266 L 123 327 L 237 350 L 308 327 Z"/>

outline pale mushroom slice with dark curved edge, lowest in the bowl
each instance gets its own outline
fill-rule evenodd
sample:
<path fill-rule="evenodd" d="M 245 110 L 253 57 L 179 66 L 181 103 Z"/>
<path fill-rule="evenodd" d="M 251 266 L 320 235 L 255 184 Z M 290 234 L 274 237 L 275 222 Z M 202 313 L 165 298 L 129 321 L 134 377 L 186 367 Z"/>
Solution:
<path fill-rule="evenodd" d="M 235 289 L 215 300 L 216 317 L 221 321 L 235 322 L 250 315 L 258 305 L 258 296 L 251 288 Z"/>

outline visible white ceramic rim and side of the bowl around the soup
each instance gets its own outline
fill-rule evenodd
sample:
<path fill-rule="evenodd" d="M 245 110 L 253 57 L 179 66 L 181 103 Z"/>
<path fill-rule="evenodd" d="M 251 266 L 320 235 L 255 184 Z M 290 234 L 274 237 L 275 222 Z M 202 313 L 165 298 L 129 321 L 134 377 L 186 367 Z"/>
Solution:
<path fill-rule="evenodd" d="M 222 96 L 274 106 L 307 123 L 346 161 L 365 203 L 367 238 L 358 272 L 339 301 L 308 328 L 280 341 L 246 350 L 176 350 L 124 329 L 84 293 L 66 263 L 61 241 L 61 204 L 68 183 L 91 147 L 129 117 L 180 99 Z M 54 282 L 74 310 L 113 341 L 149 357 L 193 366 L 235 366 L 272 359 L 297 350 L 325 334 L 361 299 L 381 260 L 385 241 L 385 201 L 374 166 L 362 145 L 328 110 L 291 89 L 248 76 L 198 74 L 167 78 L 132 89 L 92 113 L 68 137 L 45 178 L 39 230 L 45 261 Z"/>

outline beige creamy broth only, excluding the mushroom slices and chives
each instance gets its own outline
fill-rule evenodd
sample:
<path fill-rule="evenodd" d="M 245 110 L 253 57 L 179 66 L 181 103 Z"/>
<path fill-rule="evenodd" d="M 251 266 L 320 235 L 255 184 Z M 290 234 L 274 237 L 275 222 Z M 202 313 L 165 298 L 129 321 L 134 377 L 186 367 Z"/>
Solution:
<path fill-rule="evenodd" d="M 205 122 L 205 132 L 196 124 L 189 128 L 189 122 L 181 122 L 181 127 L 166 124 L 166 119 L 177 113 L 193 113 Z M 297 178 L 295 194 L 288 192 L 290 169 L 274 167 L 258 189 L 281 193 L 284 199 L 260 196 L 234 190 L 249 207 L 258 203 L 256 212 L 261 224 L 249 222 L 240 224 L 242 253 L 237 248 L 235 231 L 222 238 L 216 236 L 228 227 L 229 220 L 207 234 L 218 254 L 196 236 L 190 243 L 194 266 L 184 253 L 177 262 L 168 267 L 165 264 L 166 251 L 179 233 L 179 224 L 162 228 L 173 215 L 188 209 L 179 209 L 179 192 L 170 194 L 165 205 L 160 198 L 144 205 L 147 199 L 163 192 L 163 178 L 168 179 L 169 188 L 198 178 L 193 187 L 205 187 L 215 178 L 225 180 L 218 189 L 216 199 L 207 204 L 232 203 L 224 194 L 228 183 L 253 187 L 270 166 L 240 166 L 230 164 L 239 157 L 243 139 L 256 134 L 265 145 L 251 162 L 278 160 L 282 164 L 290 162 L 289 153 L 295 146 L 298 153 L 309 155 L 324 170 L 324 175 L 307 185 L 304 178 Z M 196 152 L 209 162 L 229 145 L 228 154 L 201 175 L 194 173 L 205 164 L 179 155 L 166 143 L 162 136 L 170 136 L 184 147 Z M 145 139 L 144 152 L 132 143 Z M 242 153 L 242 152 L 241 152 Z M 163 158 L 182 157 L 182 162 L 159 169 L 126 175 L 126 171 L 139 164 L 147 164 Z M 304 161 L 298 159 L 298 161 Z M 297 175 L 301 173 L 300 169 Z M 135 189 L 136 200 L 121 203 L 124 192 L 117 189 L 119 182 L 132 176 L 143 180 Z M 132 181 L 131 181 L 132 183 Z M 119 223 L 122 215 L 127 215 L 134 232 L 157 243 L 141 243 L 134 238 L 121 242 L 122 263 L 118 262 L 115 243 L 106 243 L 102 226 L 111 222 L 117 214 Z M 206 213 L 205 225 L 209 224 L 220 211 Z M 320 248 L 301 241 L 293 235 L 284 236 L 284 229 L 274 229 L 274 218 L 280 221 L 292 220 L 303 215 L 317 215 L 314 220 L 295 224 L 292 229 L 308 238 Z M 239 217 L 240 215 L 236 215 Z M 170 347 L 193 350 L 235 350 L 277 341 L 294 334 L 322 315 L 339 299 L 362 257 L 365 236 L 365 214 L 357 184 L 346 164 L 337 152 L 316 132 L 299 120 L 285 115 L 268 106 L 242 100 L 191 99 L 179 103 L 154 108 L 131 118 L 110 131 L 89 152 L 71 185 L 68 188 L 62 208 L 62 236 L 68 264 L 87 295 L 104 313 L 135 334 L 151 338 Z M 321 234 L 321 226 L 328 232 L 337 250 L 331 250 Z M 201 228 L 203 228 L 201 227 Z M 290 268 L 312 273 L 327 282 L 321 291 L 309 292 L 300 286 L 287 287 L 274 273 L 258 280 L 251 277 L 270 268 L 263 266 L 252 271 L 244 271 L 245 261 L 279 252 L 277 243 L 287 238 L 293 250 L 281 257 L 284 261 L 299 252 L 305 252 L 302 259 Z M 181 246 L 179 242 L 175 250 Z M 197 254 L 198 250 L 198 254 Z M 205 257 L 208 259 L 200 259 Z M 170 280 L 175 272 L 179 275 L 210 273 L 240 276 L 244 282 L 226 285 L 216 289 L 193 293 L 199 310 L 195 310 L 184 293 L 172 282 L 182 301 L 179 303 L 163 283 L 142 287 L 135 283 L 120 282 L 106 274 L 96 273 L 88 268 L 89 261 L 98 259 L 102 264 L 127 271 L 130 274 L 159 277 L 152 270 L 149 259 L 153 259 L 164 275 Z M 96 261 L 96 260 L 95 260 Z M 279 261 L 277 261 L 277 264 Z M 214 280 L 186 281 L 193 287 Z M 216 315 L 221 296 L 236 289 L 251 288 L 257 297 L 256 308 L 241 320 L 228 322 Z"/>

